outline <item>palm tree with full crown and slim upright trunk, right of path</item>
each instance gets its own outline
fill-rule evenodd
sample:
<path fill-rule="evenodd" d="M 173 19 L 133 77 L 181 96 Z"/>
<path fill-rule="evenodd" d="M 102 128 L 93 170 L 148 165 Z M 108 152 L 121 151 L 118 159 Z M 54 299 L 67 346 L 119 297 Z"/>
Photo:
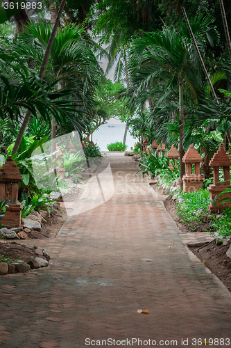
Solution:
<path fill-rule="evenodd" d="M 201 29 L 205 25 L 205 19 L 199 18 L 193 29 Z M 207 19 L 206 19 L 207 23 Z M 184 26 L 182 26 L 184 29 Z M 196 35 L 196 30 L 195 33 Z M 180 34 L 176 29 L 164 26 L 163 31 L 145 33 L 144 38 L 136 40 L 130 50 L 130 81 L 133 90 L 146 90 L 153 86 L 155 81 L 166 81 L 164 95 L 161 101 L 178 88 L 179 119 L 180 119 L 180 177 L 185 174 L 185 165 L 182 163 L 184 150 L 182 141 L 184 137 L 184 88 L 188 88 L 191 95 L 196 99 L 195 89 L 195 64 L 197 63 L 194 53 L 194 45 L 191 44 L 186 31 Z M 196 36 L 199 40 L 201 36 Z M 129 89 L 129 88 L 128 88 Z"/>

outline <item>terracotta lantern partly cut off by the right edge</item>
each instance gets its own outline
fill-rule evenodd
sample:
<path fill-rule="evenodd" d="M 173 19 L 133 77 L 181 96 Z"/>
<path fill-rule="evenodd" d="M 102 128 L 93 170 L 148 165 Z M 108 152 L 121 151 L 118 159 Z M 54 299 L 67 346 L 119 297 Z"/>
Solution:
<path fill-rule="evenodd" d="M 219 195 L 219 193 L 231 187 L 230 186 L 230 166 L 231 166 L 231 159 L 225 151 L 225 146 L 223 145 L 223 143 L 221 143 L 219 150 L 215 153 L 215 155 L 209 161 L 209 167 L 212 167 L 214 169 L 214 183 L 212 185 L 209 185 L 209 187 L 207 187 L 207 190 L 210 193 L 210 199 L 216 200 L 215 206 L 212 205 L 212 203 L 210 203 L 210 205 L 208 206 L 208 210 L 210 212 L 217 212 L 218 210 L 221 211 L 223 209 L 226 209 L 227 207 L 230 207 L 231 205 L 231 200 L 228 200 L 225 203 L 219 202 L 219 200 L 223 198 L 230 197 L 230 193 L 225 193 L 222 196 L 216 196 L 216 195 Z M 220 182 L 220 179 L 219 179 L 220 167 L 223 167 L 224 180 L 222 182 Z"/>

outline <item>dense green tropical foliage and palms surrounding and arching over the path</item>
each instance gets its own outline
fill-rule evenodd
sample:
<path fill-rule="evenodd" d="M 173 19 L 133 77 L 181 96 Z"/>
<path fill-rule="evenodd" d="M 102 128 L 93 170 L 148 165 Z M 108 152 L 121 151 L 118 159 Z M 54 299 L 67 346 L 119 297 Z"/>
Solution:
<path fill-rule="evenodd" d="M 182 156 L 194 144 L 206 188 L 209 159 L 222 141 L 227 150 L 231 145 L 230 1 L 62 0 L 58 15 L 53 3 L 42 2 L 44 10 L 30 17 L 0 10 L 0 160 L 13 154 L 22 174 L 23 214 L 50 207 L 44 190 L 59 187 L 58 136 L 78 132 L 76 153 L 61 146 L 61 163 L 65 177 L 79 182 L 89 162 L 101 157 L 92 143 L 80 152 L 80 139 L 111 117 L 139 139 L 137 173 L 169 187 L 184 175 Z M 116 82 L 106 78 L 113 66 Z M 108 150 L 126 150 L 118 140 Z M 164 152 L 151 150 L 154 140 L 166 153 L 178 148 L 173 170 Z M 204 204 L 206 193 L 198 195 Z"/>

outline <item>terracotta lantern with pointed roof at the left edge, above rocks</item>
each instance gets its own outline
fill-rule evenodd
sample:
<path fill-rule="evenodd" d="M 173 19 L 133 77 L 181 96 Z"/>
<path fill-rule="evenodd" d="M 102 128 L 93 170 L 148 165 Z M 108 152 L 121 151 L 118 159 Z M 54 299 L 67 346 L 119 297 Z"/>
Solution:
<path fill-rule="evenodd" d="M 8 200 L 8 207 L 1 223 L 7 228 L 21 227 L 22 205 L 17 202 L 19 195 L 19 182 L 22 181 L 22 175 L 12 159 L 8 156 L 5 164 L 0 169 L 0 200 Z"/>

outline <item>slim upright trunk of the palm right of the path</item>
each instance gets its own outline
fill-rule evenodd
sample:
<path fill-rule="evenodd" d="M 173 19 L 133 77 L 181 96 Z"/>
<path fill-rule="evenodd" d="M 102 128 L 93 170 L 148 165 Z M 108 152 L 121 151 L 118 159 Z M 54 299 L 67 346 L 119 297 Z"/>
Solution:
<path fill-rule="evenodd" d="M 185 163 L 182 162 L 182 157 L 185 155 L 185 151 L 182 146 L 182 141 L 185 135 L 185 122 L 184 122 L 184 91 L 183 83 L 179 82 L 179 104 L 180 104 L 180 141 L 179 141 L 179 155 L 180 155 L 180 187 L 183 186 L 182 177 L 185 175 Z"/>

